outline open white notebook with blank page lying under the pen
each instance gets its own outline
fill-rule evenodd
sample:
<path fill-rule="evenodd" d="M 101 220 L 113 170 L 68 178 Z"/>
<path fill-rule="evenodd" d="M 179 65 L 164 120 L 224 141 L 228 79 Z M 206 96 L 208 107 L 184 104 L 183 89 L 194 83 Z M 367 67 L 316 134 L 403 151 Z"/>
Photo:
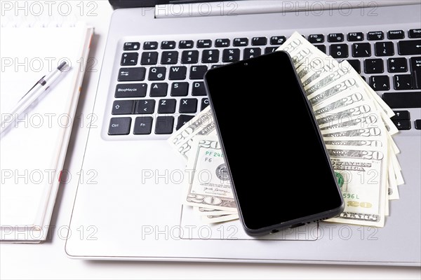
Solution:
<path fill-rule="evenodd" d="M 21 24 L 0 34 L 1 118 L 42 76 L 63 61 L 70 65 L 0 139 L 0 240 L 39 242 L 62 179 L 93 28 Z"/>

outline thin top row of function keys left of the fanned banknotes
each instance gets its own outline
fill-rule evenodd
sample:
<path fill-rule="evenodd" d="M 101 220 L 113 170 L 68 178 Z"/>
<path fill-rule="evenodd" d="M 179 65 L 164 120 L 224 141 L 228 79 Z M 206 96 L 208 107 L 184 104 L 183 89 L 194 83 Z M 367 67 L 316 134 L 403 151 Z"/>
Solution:
<path fill-rule="evenodd" d="M 269 40 L 267 37 L 253 37 L 250 40 L 248 38 L 234 38 L 233 42 L 229 38 L 218 38 L 215 40 L 215 48 L 227 48 L 231 45 L 234 47 L 243 47 L 247 45 L 282 45 L 286 41 L 285 36 L 272 36 Z M 182 40 L 178 42 L 178 48 L 189 49 L 194 48 L 194 41 Z M 213 41 L 210 39 L 203 39 L 196 41 L 196 48 L 212 48 Z M 156 41 L 147 41 L 143 44 L 143 50 L 173 50 L 177 48 L 177 42 L 175 41 L 162 41 L 161 44 Z M 139 42 L 128 42 L 124 43 L 123 50 L 140 50 Z"/>

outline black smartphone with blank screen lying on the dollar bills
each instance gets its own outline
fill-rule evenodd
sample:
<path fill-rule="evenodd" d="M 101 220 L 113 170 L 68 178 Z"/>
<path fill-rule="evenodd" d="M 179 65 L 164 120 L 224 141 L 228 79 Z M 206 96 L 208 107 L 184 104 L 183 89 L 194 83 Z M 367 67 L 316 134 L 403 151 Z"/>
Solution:
<path fill-rule="evenodd" d="M 248 235 L 343 211 L 326 146 L 287 52 L 210 69 L 205 83 Z"/>

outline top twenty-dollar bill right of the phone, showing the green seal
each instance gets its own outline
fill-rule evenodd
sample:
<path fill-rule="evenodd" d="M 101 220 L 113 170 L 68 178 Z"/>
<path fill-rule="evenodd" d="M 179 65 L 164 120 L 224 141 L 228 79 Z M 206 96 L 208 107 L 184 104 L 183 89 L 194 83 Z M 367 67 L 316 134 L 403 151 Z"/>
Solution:
<path fill-rule="evenodd" d="M 326 148 L 345 200 L 342 214 L 326 221 L 382 228 L 385 224 L 387 191 L 385 149 L 374 150 L 370 147 L 360 151 L 347 147 Z"/>

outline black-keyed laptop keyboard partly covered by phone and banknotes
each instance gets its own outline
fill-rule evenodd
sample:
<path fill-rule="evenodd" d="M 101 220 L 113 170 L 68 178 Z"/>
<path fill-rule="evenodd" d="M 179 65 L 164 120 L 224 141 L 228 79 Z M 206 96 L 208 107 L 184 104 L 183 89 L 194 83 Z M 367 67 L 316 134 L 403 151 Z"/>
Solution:
<path fill-rule="evenodd" d="M 310 43 L 346 59 L 396 110 L 399 130 L 420 130 L 409 108 L 421 108 L 421 29 L 309 34 Z M 208 106 L 208 69 L 274 52 L 286 36 L 126 42 L 108 134 L 170 135 Z"/>

